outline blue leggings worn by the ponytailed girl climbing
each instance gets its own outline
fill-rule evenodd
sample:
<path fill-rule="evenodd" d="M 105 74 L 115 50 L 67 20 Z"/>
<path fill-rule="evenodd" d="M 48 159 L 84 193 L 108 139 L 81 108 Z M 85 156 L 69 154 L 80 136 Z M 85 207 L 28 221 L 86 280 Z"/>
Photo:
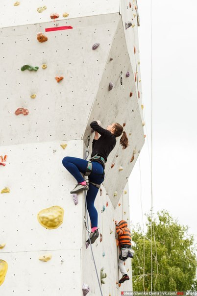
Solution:
<path fill-rule="evenodd" d="M 85 173 L 88 161 L 66 156 L 62 160 L 63 166 L 71 173 L 76 181 L 83 182 L 84 178 L 81 173 Z M 90 182 L 101 184 L 104 180 L 103 176 L 103 167 L 99 162 L 92 162 L 92 173 L 88 176 Z M 86 200 L 87 200 L 87 209 L 90 216 L 90 221 L 92 227 L 98 227 L 98 212 L 95 208 L 94 202 L 98 193 L 98 188 L 89 183 L 89 190 L 87 192 Z"/>

